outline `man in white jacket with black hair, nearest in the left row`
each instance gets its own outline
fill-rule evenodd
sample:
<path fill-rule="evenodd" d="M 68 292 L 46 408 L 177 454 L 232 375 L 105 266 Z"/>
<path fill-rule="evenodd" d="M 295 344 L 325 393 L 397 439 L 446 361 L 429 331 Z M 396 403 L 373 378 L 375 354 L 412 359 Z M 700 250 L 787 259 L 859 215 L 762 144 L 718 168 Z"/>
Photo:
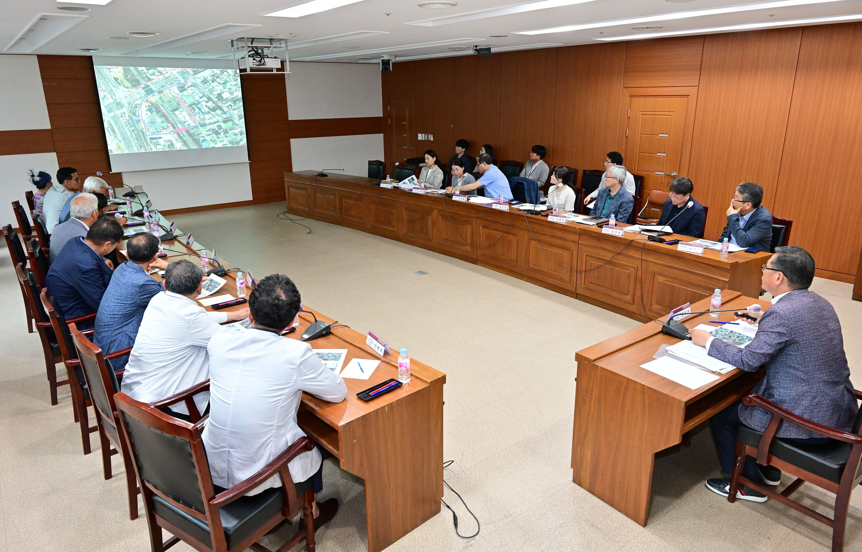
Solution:
<path fill-rule="evenodd" d="M 340 402 L 347 386 L 323 366 L 311 346 L 281 332 L 299 312 L 299 291 L 290 278 L 266 276 L 248 298 L 251 328 L 225 332 L 209 341 L 209 422 L 203 430 L 213 483 L 233 487 L 305 437 L 297 425 L 303 391 Z M 303 452 L 288 464 L 297 497 L 312 484 L 322 489 L 319 450 Z M 273 475 L 249 494 L 281 487 Z M 314 505 L 315 527 L 338 510 L 338 500 Z M 318 515 L 319 514 L 319 515 Z"/>

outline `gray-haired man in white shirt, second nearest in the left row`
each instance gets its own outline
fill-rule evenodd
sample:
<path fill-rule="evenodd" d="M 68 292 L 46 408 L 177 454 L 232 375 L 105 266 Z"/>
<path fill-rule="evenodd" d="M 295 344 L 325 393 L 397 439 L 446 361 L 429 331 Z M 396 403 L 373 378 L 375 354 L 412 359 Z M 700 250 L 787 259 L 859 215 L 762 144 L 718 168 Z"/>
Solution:
<path fill-rule="evenodd" d="M 248 316 L 243 308 L 233 313 L 208 313 L 197 304 L 203 287 L 203 270 L 182 259 L 168 264 L 165 291 L 155 295 L 144 311 L 141 328 L 128 357 L 120 390 L 134 400 L 154 402 L 178 394 L 209 378 L 209 338 L 222 332 L 222 324 Z M 203 413 L 209 393 L 195 395 L 197 411 Z M 166 409 L 188 419 L 184 403 Z"/>

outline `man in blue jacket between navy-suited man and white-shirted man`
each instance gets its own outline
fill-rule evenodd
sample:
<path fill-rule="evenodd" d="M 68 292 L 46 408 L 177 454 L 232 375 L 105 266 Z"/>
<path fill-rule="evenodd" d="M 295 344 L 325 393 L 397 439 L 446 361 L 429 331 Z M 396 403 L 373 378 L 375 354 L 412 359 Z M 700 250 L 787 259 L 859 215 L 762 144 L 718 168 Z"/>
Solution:
<path fill-rule="evenodd" d="M 126 242 L 128 261 L 116 267 L 96 314 L 93 342 L 104 351 L 114 352 L 134 345 L 141 319 L 153 295 L 162 291 L 149 271 L 166 270 L 159 259 L 159 239 L 151 233 L 136 233 Z M 126 367 L 128 357 L 111 361 L 114 369 Z"/>

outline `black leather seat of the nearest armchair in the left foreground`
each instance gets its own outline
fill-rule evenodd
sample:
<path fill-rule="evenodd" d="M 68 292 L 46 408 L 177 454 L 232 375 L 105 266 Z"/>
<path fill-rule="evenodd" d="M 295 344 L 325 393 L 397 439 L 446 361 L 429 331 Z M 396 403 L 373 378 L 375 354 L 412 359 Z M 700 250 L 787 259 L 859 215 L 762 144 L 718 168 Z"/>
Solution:
<path fill-rule="evenodd" d="M 223 490 L 219 487 L 215 488 L 216 493 Z M 228 549 L 233 549 L 248 538 L 261 525 L 278 514 L 282 508 L 284 508 L 284 492 L 281 487 L 268 488 L 253 496 L 241 497 L 223 508 L 219 508 Z M 169 523 L 197 538 L 200 542 L 212 546 L 209 539 L 209 524 L 203 519 L 181 512 L 167 504 L 158 494 L 153 494 L 153 511 Z"/>

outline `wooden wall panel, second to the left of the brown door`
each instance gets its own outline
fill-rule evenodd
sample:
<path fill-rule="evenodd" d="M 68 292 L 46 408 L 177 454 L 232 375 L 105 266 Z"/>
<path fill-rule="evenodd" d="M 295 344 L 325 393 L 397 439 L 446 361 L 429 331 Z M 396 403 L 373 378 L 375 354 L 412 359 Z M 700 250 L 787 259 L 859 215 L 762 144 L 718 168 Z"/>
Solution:
<path fill-rule="evenodd" d="M 497 159 L 525 163 L 530 149 L 540 144 L 553 164 L 557 48 L 503 53 L 500 76 L 500 142 L 492 144 Z"/>

